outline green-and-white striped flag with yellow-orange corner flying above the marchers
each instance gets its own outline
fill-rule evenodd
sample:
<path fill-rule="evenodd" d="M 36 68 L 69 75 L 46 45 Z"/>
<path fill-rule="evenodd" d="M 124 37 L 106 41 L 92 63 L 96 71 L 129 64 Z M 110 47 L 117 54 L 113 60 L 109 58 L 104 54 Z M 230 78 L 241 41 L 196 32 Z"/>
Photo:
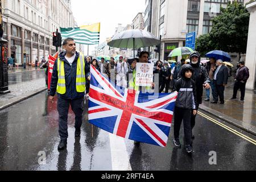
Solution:
<path fill-rule="evenodd" d="M 62 40 L 73 38 L 76 43 L 94 45 L 100 42 L 100 23 L 75 27 L 60 28 Z"/>

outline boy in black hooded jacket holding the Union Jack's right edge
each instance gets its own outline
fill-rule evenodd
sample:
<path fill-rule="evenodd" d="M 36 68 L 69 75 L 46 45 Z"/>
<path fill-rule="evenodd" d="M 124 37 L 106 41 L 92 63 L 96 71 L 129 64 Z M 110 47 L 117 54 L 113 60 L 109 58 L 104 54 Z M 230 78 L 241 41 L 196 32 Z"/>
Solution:
<path fill-rule="evenodd" d="M 183 120 L 186 151 L 191 153 L 192 148 L 192 129 L 191 129 L 191 110 L 196 115 L 196 84 L 191 79 L 193 68 L 185 64 L 181 67 L 179 80 L 175 82 L 175 91 L 179 92 L 174 111 L 174 144 L 181 147 L 179 140 L 180 125 Z"/>

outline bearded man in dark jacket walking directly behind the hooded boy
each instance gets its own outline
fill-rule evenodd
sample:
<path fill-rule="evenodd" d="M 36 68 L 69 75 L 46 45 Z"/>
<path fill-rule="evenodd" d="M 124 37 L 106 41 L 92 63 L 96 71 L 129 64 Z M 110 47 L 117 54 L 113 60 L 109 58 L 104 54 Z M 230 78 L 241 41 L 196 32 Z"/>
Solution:
<path fill-rule="evenodd" d="M 199 105 L 202 104 L 202 96 L 204 88 L 209 89 L 210 85 L 210 78 L 208 76 L 207 70 L 205 67 L 200 65 L 200 53 L 199 52 L 192 52 L 190 54 L 190 65 L 193 67 L 193 76 L 192 80 L 196 83 L 196 110 L 198 110 Z M 203 88 L 204 87 L 204 88 Z M 196 115 L 191 113 L 191 128 L 195 127 L 196 123 Z M 192 138 L 194 136 L 192 135 Z"/>

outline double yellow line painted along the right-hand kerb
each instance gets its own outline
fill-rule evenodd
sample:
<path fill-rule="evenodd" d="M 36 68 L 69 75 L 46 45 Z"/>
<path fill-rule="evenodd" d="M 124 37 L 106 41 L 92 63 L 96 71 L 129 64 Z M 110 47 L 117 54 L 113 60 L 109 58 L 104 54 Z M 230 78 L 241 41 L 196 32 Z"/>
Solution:
<path fill-rule="evenodd" d="M 224 127 L 224 129 L 229 130 L 230 132 L 238 135 L 239 137 L 247 140 L 248 142 L 256 145 L 256 140 L 254 140 L 250 137 L 247 137 L 246 135 L 243 135 L 242 133 L 238 132 L 237 130 L 232 129 L 231 127 L 228 127 L 228 126 L 222 124 L 221 122 L 218 122 L 216 119 L 213 119 L 213 118 L 209 117 L 208 115 L 201 113 L 200 111 L 198 111 L 198 114 L 201 115 L 202 117 L 208 119 L 209 121 L 212 121 L 213 123 L 216 123 L 217 125 L 219 125 L 221 127 Z"/>

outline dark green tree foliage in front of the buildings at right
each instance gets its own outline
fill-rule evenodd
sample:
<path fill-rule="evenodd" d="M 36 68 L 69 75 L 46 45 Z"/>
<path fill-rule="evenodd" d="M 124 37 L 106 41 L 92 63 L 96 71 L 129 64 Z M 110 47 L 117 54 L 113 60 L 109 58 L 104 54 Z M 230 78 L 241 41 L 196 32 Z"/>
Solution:
<path fill-rule="evenodd" d="M 250 13 L 236 1 L 229 2 L 221 14 L 212 19 L 209 34 L 196 40 L 196 50 L 200 53 L 219 49 L 225 52 L 246 53 Z"/>

